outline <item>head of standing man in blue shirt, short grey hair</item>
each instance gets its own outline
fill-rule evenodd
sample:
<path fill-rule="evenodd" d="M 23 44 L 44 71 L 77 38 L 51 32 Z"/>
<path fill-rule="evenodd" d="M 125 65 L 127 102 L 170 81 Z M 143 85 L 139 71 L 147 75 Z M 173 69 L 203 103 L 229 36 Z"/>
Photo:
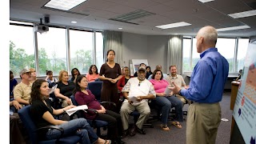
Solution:
<path fill-rule="evenodd" d="M 205 26 L 198 31 L 196 38 L 198 53 L 202 53 L 210 47 L 215 47 L 218 33 L 213 26 Z"/>

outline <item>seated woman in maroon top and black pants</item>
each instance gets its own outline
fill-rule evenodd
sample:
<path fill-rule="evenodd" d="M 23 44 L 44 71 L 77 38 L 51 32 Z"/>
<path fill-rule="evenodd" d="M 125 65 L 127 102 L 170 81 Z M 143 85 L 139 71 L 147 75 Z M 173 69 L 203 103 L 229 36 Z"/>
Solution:
<path fill-rule="evenodd" d="M 111 110 L 106 110 L 90 90 L 86 90 L 88 86 L 88 81 L 86 76 L 79 75 L 76 87 L 74 90 L 74 98 L 78 102 L 78 105 L 87 105 L 89 109 L 94 109 L 98 111 L 98 117 L 96 119 L 106 121 L 109 123 L 107 136 L 115 143 L 125 143 L 120 139 L 120 134 L 122 134 L 122 120 L 120 114 L 117 114 Z M 86 113 L 85 113 L 86 114 Z M 86 114 L 87 119 L 94 118 L 95 115 Z"/>

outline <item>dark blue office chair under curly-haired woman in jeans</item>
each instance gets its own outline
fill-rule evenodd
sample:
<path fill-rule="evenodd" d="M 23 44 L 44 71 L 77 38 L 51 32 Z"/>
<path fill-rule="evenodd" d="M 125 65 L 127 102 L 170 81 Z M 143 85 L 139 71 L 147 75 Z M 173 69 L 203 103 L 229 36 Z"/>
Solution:
<path fill-rule="evenodd" d="M 25 126 L 29 137 L 30 137 L 30 142 L 35 144 L 52 144 L 52 143 L 62 143 L 62 144 L 71 144 L 71 143 L 78 143 L 80 141 L 80 137 L 77 135 L 73 136 L 67 136 L 65 138 L 62 137 L 64 134 L 64 130 L 58 126 L 44 126 L 42 128 L 37 129 L 36 126 L 34 125 L 34 122 L 32 121 L 32 118 L 30 117 L 30 105 L 29 106 L 24 106 L 22 107 L 21 110 L 18 110 L 18 115 L 22 120 L 23 125 Z M 42 129 L 56 129 L 61 131 L 61 136 L 57 139 L 51 139 L 51 140 L 43 140 L 43 141 L 38 141 L 38 135 L 37 131 L 42 130 Z"/>

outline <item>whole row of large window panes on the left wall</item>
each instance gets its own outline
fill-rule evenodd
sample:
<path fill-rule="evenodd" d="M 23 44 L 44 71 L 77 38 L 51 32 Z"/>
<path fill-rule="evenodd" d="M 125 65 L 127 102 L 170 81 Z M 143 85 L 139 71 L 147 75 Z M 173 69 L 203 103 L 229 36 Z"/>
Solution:
<path fill-rule="evenodd" d="M 53 70 L 54 75 L 58 75 L 60 70 L 77 67 L 85 74 L 92 64 L 98 69 L 102 66 L 101 32 L 49 26 L 46 33 L 34 35 L 33 25 L 10 21 L 10 70 L 15 77 L 19 76 L 20 70 L 29 68 L 35 68 L 38 76 L 45 76 L 46 70 Z"/>

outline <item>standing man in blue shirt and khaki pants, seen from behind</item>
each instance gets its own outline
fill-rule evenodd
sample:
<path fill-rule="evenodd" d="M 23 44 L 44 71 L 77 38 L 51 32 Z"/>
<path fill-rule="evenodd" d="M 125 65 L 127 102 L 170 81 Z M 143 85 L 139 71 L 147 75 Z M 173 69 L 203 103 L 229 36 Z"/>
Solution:
<path fill-rule="evenodd" d="M 170 90 L 193 102 L 188 110 L 186 144 L 214 144 L 221 122 L 219 102 L 229 73 L 229 63 L 215 48 L 218 34 L 214 27 L 202 27 L 196 38 L 200 60 L 191 74 L 190 88 L 182 90 L 173 82 L 174 87 Z"/>

